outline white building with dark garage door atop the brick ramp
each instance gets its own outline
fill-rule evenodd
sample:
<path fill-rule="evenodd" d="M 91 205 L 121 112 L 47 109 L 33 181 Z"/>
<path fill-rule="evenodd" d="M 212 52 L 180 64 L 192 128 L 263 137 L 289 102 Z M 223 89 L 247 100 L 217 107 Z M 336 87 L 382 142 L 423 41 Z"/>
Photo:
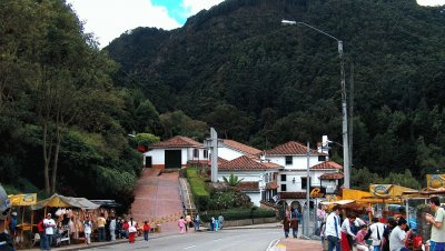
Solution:
<path fill-rule="evenodd" d="M 208 150 L 202 143 L 181 135 L 155 143 L 144 153 L 145 168 L 185 168 L 190 162 L 208 163 Z"/>

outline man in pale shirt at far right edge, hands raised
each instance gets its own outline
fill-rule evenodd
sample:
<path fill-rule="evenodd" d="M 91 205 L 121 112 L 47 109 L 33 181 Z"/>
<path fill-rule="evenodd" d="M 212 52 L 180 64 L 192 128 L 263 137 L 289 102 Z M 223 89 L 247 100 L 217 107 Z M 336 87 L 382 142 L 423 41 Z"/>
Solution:
<path fill-rule="evenodd" d="M 438 197 L 429 198 L 429 208 L 434 211 L 434 217 L 429 213 L 425 215 L 426 222 L 432 224 L 429 251 L 445 251 L 445 210 L 441 208 Z"/>

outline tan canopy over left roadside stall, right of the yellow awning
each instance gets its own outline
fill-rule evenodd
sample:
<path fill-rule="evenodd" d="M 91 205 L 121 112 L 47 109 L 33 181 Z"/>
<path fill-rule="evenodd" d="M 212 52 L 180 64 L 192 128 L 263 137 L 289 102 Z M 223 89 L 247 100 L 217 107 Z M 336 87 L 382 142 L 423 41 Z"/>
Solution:
<path fill-rule="evenodd" d="M 31 205 L 32 210 L 39 210 L 42 208 L 79 208 L 79 209 L 97 209 L 98 204 L 92 203 L 86 198 L 63 197 L 57 193 L 52 197 L 37 202 Z"/>

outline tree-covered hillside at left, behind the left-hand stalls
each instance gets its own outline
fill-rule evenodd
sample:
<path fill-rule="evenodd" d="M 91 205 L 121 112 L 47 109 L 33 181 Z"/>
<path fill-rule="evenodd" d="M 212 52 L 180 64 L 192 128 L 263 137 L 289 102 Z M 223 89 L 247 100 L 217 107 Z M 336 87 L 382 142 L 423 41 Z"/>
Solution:
<path fill-rule="evenodd" d="M 159 127 L 156 109 L 115 86 L 116 63 L 65 1 L 2 0 L 0 20 L 0 182 L 126 210 L 141 170 L 128 133 Z"/>

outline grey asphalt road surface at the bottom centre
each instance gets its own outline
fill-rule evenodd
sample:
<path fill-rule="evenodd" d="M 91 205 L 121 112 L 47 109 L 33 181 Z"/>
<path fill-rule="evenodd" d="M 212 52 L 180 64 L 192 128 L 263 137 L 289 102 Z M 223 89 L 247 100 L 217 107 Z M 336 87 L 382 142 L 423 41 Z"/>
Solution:
<path fill-rule="evenodd" d="M 91 248 L 89 250 L 154 250 L 154 251 L 265 251 L 274 240 L 283 238 L 280 229 L 233 229 L 218 232 L 191 232 L 150 239 L 147 243 L 138 239 L 134 244 Z M 147 248 L 148 247 L 148 248 Z"/>

